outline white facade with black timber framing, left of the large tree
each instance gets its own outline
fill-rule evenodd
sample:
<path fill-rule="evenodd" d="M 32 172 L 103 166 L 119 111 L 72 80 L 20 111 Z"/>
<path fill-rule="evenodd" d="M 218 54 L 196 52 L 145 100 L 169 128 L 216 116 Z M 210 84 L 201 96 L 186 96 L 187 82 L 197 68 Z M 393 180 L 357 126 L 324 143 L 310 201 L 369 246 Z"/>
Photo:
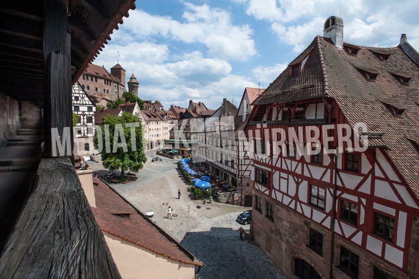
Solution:
<path fill-rule="evenodd" d="M 78 82 L 73 85 L 71 100 L 73 113 L 77 114 L 79 120 L 77 125 L 73 127 L 75 129 L 74 143 L 77 146 L 77 154 L 93 154 L 96 105 Z"/>

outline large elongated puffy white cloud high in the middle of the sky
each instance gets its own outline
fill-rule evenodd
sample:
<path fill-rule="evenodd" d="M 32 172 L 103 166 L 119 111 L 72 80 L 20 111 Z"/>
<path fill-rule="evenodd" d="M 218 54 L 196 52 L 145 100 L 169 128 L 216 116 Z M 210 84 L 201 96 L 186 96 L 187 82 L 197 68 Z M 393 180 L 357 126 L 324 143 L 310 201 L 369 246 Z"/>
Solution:
<path fill-rule="evenodd" d="M 184 22 L 133 10 L 122 26 L 139 38 L 162 36 L 188 44 L 204 44 L 208 54 L 216 58 L 246 60 L 256 55 L 249 25 L 233 25 L 230 13 L 207 4 L 185 3 L 185 6 Z"/>

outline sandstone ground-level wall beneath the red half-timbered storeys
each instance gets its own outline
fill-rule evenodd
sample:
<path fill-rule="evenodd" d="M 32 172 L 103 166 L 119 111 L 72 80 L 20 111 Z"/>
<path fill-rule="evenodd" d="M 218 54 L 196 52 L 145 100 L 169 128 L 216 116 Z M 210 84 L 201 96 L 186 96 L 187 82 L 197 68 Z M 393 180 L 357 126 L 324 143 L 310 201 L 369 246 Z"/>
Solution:
<path fill-rule="evenodd" d="M 259 190 L 254 189 L 255 195 L 262 198 L 262 213 L 253 207 L 252 211 L 252 230 L 255 243 L 265 253 L 272 262 L 288 278 L 296 278 L 294 275 L 294 259 L 300 258 L 308 262 L 321 278 L 329 278 L 330 274 L 330 255 L 331 255 L 331 232 L 325 227 L 315 223 L 288 207 L 277 204 L 274 199 L 266 196 Z M 253 200 L 256 200 L 255 195 Z M 265 217 L 266 202 L 274 205 L 273 221 Z M 415 221 L 416 220 L 416 221 Z M 310 228 L 323 234 L 322 254 L 314 252 L 308 244 Z M 414 218 L 412 235 L 419 233 L 419 221 Z M 416 237 L 417 238 L 417 237 Z M 350 277 L 341 271 L 340 246 L 359 256 L 358 278 L 372 278 L 373 266 L 377 266 L 397 279 L 418 278 L 419 271 L 419 240 L 411 243 L 411 253 L 409 260 L 408 275 L 397 268 L 383 262 L 379 258 L 368 253 L 359 246 L 354 245 L 340 237 L 334 235 L 333 245 L 333 278 L 349 279 Z"/>

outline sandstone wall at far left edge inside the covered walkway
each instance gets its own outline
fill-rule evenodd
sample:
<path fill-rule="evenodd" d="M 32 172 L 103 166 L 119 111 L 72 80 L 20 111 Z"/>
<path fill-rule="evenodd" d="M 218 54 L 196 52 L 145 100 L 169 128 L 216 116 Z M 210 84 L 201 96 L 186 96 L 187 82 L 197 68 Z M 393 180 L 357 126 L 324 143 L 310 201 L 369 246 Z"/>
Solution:
<path fill-rule="evenodd" d="M 19 103 L 0 92 L 0 149 L 5 147 L 7 138 L 16 135 L 19 127 Z"/>

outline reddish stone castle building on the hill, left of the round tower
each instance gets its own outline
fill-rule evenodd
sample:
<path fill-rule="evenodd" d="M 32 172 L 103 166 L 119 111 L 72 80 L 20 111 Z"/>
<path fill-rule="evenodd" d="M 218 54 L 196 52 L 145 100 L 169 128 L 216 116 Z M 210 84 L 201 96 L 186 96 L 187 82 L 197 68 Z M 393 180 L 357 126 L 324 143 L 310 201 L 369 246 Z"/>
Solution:
<path fill-rule="evenodd" d="M 125 92 L 125 70 L 116 64 L 109 73 L 104 66 L 89 63 L 78 82 L 97 106 L 106 107 Z"/>

